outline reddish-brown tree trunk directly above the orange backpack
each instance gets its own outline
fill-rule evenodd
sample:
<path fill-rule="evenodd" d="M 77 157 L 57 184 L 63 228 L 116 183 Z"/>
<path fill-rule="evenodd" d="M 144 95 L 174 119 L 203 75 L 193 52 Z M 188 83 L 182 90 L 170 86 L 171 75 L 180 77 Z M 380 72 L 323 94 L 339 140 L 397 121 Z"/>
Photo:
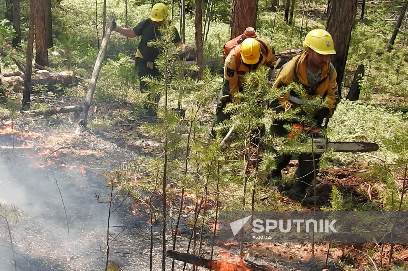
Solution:
<path fill-rule="evenodd" d="M 256 29 L 258 0 L 233 0 L 231 9 L 231 39 L 244 33 L 247 27 Z"/>

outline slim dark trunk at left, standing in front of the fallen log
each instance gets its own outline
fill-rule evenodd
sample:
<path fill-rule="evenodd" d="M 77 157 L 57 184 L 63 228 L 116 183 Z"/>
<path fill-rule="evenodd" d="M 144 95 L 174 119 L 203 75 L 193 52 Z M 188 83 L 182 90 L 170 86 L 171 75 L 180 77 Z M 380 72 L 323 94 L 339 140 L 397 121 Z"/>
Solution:
<path fill-rule="evenodd" d="M 26 59 L 26 71 L 24 78 L 24 93 L 21 109 L 30 108 L 30 94 L 31 94 L 31 71 L 33 68 L 33 42 L 34 42 L 34 25 L 35 25 L 35 11 L 37 6 L 36 0 L 31 0 L 29 5 L 29 30 L 27 37 L 27 59 Z"/>

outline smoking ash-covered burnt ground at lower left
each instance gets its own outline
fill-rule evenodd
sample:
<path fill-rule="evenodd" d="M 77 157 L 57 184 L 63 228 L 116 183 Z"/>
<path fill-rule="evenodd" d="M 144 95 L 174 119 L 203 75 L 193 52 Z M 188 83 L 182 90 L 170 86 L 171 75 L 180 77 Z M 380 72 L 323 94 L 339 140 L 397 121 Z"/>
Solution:
<path fill-rule="evenodd" d="M 75 128 L 73 113 L 0 123 L 1 145 L 28 147 L 3 150 L 0 155 L 0 203 L 18 206 L 21 214 L 19 221 L 9 221 L 20 271 L 104 270 L 109 204 L 99 203 L 95 194 L 100 194 L 102 202 L 109 200 L 111 191 L 105 173 L 126 162 L 143 161 L 161 153 L 157 142 L 137 132 L 137 122 L 123 127 L 92 127 L 81 136 L 74 133 Z M 125 139 L 124 133 L 132 133 L 132 139 Z M 67 211 L 69 237 L 55 179 Z M 121 199 L 116 202 L 113 209 Z M 143 212 L 133 215 L 132 206 L 133 202 L 127 199 L 111 214 L 110 225 L 120 227 L 110 228 L 113 241 L 109 259 L 123 271 L 149 270 L 149 215 Z M 171 249 L 171 228 L 177 209 L 169 213 L 172 217 L 168 221 L 167 249 Z M 152 270 L 162 270 L 161 227 L 160 220 L 153 225 Z M 191 229 L 182 222 L 179 230 L 176 250 L 186 252 Z M 0 234 L 0 270 L 15 270 L 4 221 Z M 212 234 L 203 236 L 202 255 L 206 258 L 211 255 Z M 215 259 L 233 262 L 239 245 L 220 244 L 214 251 Z M 311 259 L 310 246 L 306 244 L 248 244 L 245 251 L 246 259 L 268 264 L 273 270 L 338 270 L 335 264 L 324 264 L 327 244 L 317 246 L 315 260 Z M 332 259 L 335 256 L 330 253 L 332 263 L 336 262 Z M 166 265 L 171 270 L 171 259 L 167 259 Z M 182 269 L 183 263 L 176 261 L 175 270 Z M 191 269 L 187 264 L 186 270 Z"/>

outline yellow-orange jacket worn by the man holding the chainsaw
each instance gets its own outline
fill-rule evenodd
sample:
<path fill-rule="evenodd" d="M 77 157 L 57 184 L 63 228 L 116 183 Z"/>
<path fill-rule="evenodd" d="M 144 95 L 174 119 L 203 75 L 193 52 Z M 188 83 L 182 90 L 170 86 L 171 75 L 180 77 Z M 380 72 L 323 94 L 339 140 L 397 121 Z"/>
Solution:
<path fill-rule="evenodd" d="M 307 67 L 308 52 L 304 52 L 299 56 L 295 56 L 292 60 L 286 63 L 276 75 L 274 88 L 280 88 L 289 85 L 291 82 L 297 82 L 302 84 L 306 89 L 307 98 L 311 99 L 317 96 L 322 98 L 328 98 L 326 106 L 329 109 L 328 117 L 333 115 L 335 105 L 339 101 L 338 89 L 337 89 L 337 73 L 333 64 L 329 61 L 322 68 L 322 76 L 320 81 L 316 86 L 311 89 L 308 86 L 308 80 L 306 77 L 306 67 Z M 286 93 L 284 96 L 278 97 L 277 101 L 279 105 L 284 108 L 284 110 L 289 110 L 290 108 L 299 107 L 289 100 L 290 93 Z"/>

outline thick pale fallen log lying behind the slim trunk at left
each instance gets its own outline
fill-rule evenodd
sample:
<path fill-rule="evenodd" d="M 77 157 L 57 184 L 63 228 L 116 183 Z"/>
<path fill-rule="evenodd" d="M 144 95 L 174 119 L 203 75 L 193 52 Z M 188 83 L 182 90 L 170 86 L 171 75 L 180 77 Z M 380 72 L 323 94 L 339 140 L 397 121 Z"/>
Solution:
<path fill-rule="evenodd" d="M 24 86 L 24 75 L 19 72 L 4 73 L 3 83 L 9 88 L 22 88 Z M 59 73 L 39 70 L 33 73 L 31 78 L 31 89 L 35 86 L 46 86 L 48 91 L 54 91 L 55 85 L 71 87 L 80 82 L 80 78 L 73 75 L 73 71 L 61 71 Z"/>

